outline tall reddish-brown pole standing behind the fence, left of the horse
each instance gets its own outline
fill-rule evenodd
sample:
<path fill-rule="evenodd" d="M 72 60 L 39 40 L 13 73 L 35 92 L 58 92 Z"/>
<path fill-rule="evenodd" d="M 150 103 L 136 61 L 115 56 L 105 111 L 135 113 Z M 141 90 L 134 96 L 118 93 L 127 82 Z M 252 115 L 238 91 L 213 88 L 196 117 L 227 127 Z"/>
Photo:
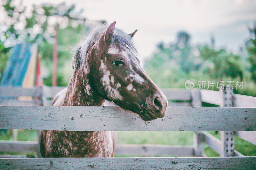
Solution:
<path fill-rule="evenodd" d="M 58 65 L 58 24 L 54 26 L 54 44 L 52 52 L 52 86 L 57 86 L 57 65 Z"/>

